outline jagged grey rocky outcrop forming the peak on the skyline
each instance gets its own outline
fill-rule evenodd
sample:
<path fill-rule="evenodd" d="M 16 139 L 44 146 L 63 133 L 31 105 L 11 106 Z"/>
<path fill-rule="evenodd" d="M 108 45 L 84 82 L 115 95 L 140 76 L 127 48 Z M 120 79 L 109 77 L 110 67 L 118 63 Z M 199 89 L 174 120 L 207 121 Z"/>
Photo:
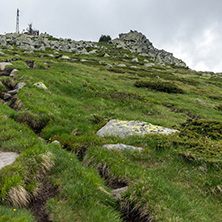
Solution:
<path fill-rule="evenodd" d="M 172 53 L 156 49 L 153 44 L 140 32 L 130 31 L 120 34 L 119 38 L 112 40 L 117 48 L 128 49 L 141 55 L 146 55 L 157 63 L 167 63 L 171 65 L 186 67 L 186 63 L 173 56 Z"/>

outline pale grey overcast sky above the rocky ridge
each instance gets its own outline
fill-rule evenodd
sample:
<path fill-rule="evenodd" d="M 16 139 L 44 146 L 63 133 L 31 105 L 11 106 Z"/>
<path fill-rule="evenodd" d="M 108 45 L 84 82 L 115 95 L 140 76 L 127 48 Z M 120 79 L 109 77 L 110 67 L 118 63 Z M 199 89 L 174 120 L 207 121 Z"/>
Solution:
<path fill-rule="evenodd" d="M 137 30 L 195 70 L 222 72 L 221 0 L 1 0 L 0 34 L 29 23 L 56 37 L 98 41 Z"/>

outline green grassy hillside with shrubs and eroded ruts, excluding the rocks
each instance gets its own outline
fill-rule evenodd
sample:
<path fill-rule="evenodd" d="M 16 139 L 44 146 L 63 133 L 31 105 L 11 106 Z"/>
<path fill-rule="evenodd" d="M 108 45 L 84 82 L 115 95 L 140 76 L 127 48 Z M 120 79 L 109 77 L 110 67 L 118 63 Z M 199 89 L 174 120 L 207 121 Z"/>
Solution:
<path fill-rule="evenodd" d="M 0 170 L 0 221 L 221 221 L 221 76 L 99 45 L 93 55 L 2 49 L 19 71 L 0 73 L 1 93 L 26 85 L 0 99 L 0 150 L 20 154 Z M 180 132 L 96 136 L 111 119 Z M 144 151 L 102 148 L 113 143 Z"/>

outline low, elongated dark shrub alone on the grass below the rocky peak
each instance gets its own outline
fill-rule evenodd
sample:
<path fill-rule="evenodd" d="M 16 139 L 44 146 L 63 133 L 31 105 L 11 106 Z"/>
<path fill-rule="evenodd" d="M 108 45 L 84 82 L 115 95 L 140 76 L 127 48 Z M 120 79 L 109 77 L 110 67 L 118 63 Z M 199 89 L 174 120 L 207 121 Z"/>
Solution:
<path fill-rule="evenodd" d="M 138 88 L 150 88 L 166 93 L 184 93 L 183 89 L 171 82 L 136 81 L 134 85 Z"/>

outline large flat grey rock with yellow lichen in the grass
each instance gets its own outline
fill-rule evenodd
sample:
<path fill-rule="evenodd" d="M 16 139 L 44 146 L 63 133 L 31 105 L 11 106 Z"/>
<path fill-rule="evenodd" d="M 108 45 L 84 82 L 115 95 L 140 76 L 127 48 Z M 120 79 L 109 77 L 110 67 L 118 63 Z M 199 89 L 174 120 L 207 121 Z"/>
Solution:
<path fill-rule="evenodd" d="M 142 121 L 122 121 L 110 120 L 104 127 L 102 127 L 96 135 L 104 136 L 119 136 L 127 137 L 146 134 L 163 134 L 169 135 L 171 133 L 179 132 L 175 129 L 169 129 L 161 126 L 156 126 L 151 123 Z"/>

